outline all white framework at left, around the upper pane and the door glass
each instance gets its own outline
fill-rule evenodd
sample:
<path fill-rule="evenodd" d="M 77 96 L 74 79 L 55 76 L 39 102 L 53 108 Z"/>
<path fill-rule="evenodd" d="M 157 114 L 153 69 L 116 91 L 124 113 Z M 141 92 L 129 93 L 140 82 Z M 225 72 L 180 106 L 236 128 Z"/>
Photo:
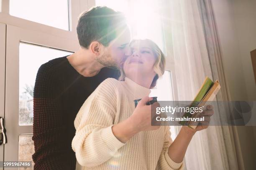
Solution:
<path fill-rule="evenodd" d="M 0 13 L 0 116 L 5 117 L 8 143 L 0 145 L 0 161 L 18 161 L 19 135 L 33 134 L 33 125 L 19 125 L 20 42 L 74 52 L 79 49 L 76 26 L 79 15 L 92 4 L 69 0 L 69 28 L 61 30 L 9 15 L 9 0 Z M 6 52 L 5 52 L 6 49 Z M 0 170 L 3 168 L 0 168 Z M 13 168 L 18 169 L 18 168 Z"/>

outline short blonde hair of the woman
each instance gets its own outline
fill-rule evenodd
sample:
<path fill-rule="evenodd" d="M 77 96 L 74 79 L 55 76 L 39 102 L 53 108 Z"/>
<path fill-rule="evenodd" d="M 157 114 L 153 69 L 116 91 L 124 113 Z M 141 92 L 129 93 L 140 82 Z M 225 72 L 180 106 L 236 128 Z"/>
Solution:
<path fill-rule="evenodd" d="M 156 86 L 156 81 L 159 79 L 159 77 L 161 77 L 164 74 L 164 70 L 165 70 L 165 56 L 164 53 L 161 51 L 161 49 L 158 47 L 158 45 L 156 45 L 156 43 L 152 40 L 149 39 L 143 39 L 143 40 L 132 40 L 130 42 L 130 46 L 134 43 L 134 42 L 138 42 L 138 41 L 146 41 L 148 43 L 148 45 L 151 47 L 151 50 L 153 51 L 155 57 L 156 57 L 156 62 L 153 66 L 154 71 L 156 72 L 156 75 L 150 85 L 150 88 L 154 88 Z M 121 75 L 119 77 L 120 81 L 123 81 L 125 79 L 125 73 L 123 70 L 123 65 L 121 65 L 120 67 L 120 72 Z"/>

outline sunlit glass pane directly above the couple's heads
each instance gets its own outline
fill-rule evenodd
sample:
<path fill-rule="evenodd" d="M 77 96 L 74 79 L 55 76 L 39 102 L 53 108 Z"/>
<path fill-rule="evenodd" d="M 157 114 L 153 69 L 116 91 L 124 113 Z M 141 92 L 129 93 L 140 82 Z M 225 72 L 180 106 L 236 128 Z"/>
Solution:
<path fill-rule="evenodd" d="M 132 37 L 148 38 L 164 51 L 161 11 L 157 0 L 95 0 L 96 6 L 108 6 L 125 14 Z"/>

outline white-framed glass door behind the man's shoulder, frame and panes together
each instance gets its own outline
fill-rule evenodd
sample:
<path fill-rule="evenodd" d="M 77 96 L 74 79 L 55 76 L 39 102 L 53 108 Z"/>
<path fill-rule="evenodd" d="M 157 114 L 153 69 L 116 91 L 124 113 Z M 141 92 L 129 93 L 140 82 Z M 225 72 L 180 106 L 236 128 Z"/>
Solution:
<path fill-rule="evenodd" d="M 32 161 L 33 86 L 38 68 L 49 60 L 72 54 L 79 45 L 74 39 L 12 25 L 7 25 L 6 35 L 5 125 L 9 133 L 4 160 Z"/>

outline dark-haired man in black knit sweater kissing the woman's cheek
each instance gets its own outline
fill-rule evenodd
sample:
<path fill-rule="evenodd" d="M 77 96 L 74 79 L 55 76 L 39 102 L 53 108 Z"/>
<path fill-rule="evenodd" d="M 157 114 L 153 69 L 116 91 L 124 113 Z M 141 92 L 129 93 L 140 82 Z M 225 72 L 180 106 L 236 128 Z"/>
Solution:
<path fill-rule="evenodd" d="M 34 88 L 34 170 L 74 170 L 74 119 L 84 101 L 108 77 L 118 78 L 130 32 L 125 18 L 94 7 L 78 21 L 80 49 L 41 65 Z"/>

